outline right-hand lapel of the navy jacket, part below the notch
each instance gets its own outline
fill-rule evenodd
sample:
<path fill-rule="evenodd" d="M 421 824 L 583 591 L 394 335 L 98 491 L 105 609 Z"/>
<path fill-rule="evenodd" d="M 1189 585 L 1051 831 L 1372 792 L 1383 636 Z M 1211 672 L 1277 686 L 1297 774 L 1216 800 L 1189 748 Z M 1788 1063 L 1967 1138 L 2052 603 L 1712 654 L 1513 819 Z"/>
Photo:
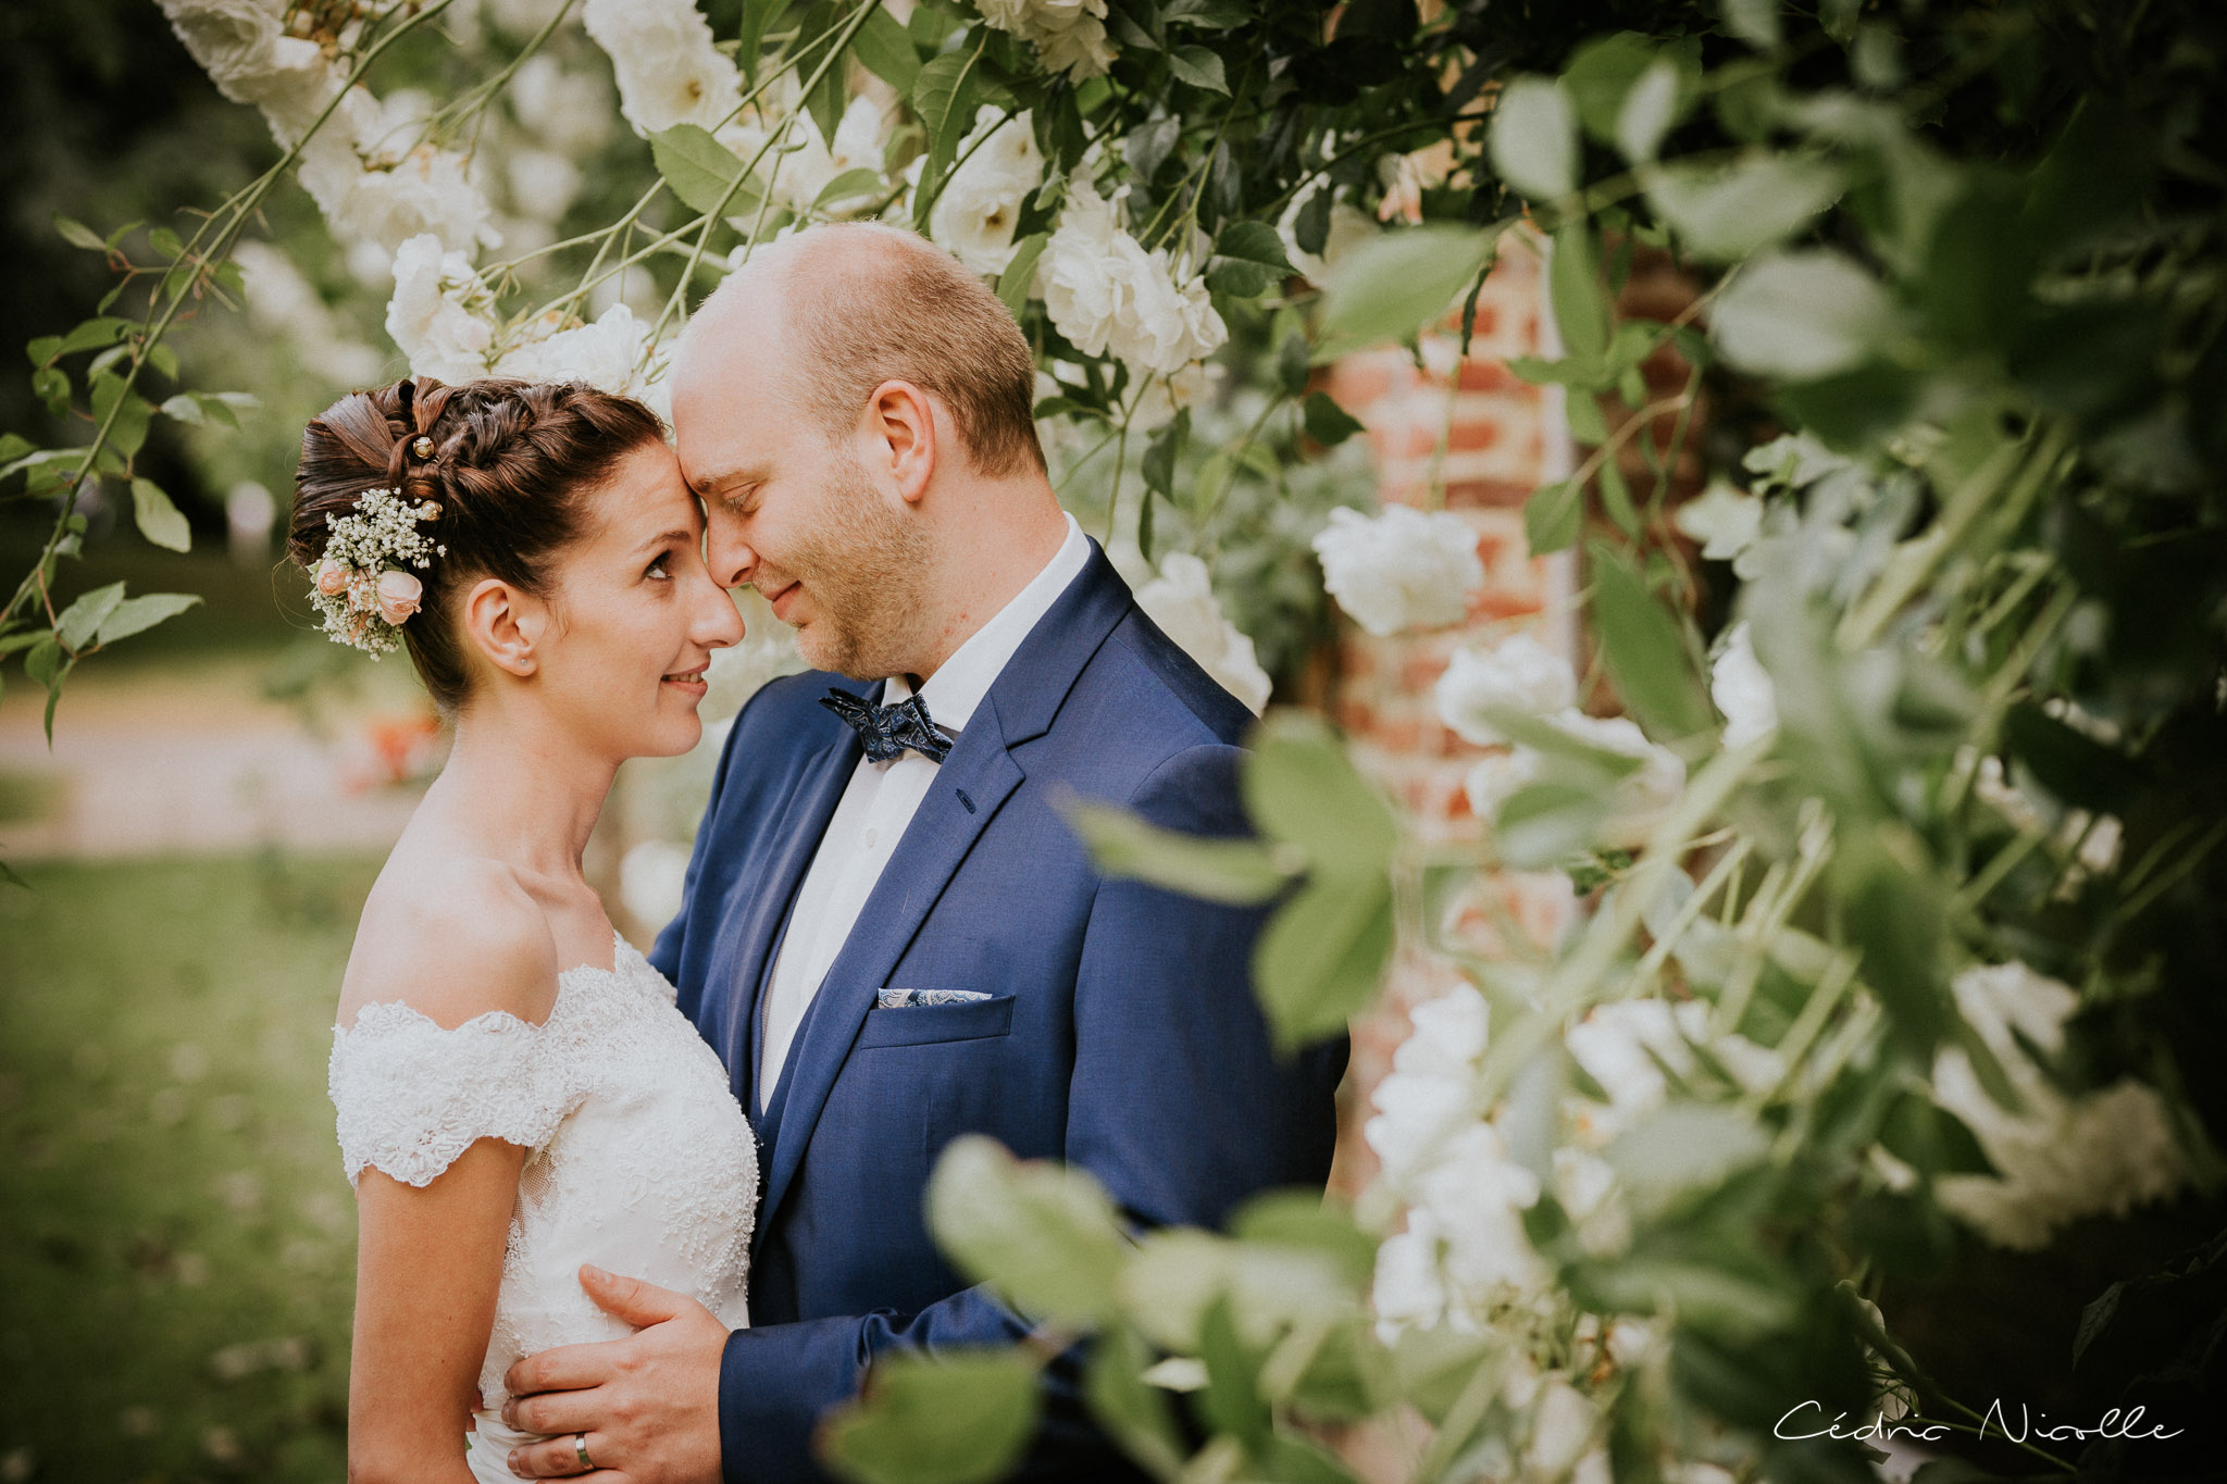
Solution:
<path fill-rule="evenodd" d="M 866 1023 L 866 1012 L 873 1010 L 875 990 L 889 983 L 891 970 L 897 968 L 935 899 L 1020 781 L 1020 765 L 1007 752 L 998 725 L 998 708 L 984 699 L 951 748 L 951 756 L 938 768 L 933 788 L 904 828 L 904 839 L 891 852 L 882 879 L 860 908 L 857 926 L 828 966 L 797 1028 L 788 1068 L 759 1126 L 771 1161 L 766 1201 L 757 1217 L 759 1233 L 773 1226 L 773 1213 L 804 1159 L 804 1146 L 811 1144 L 828 1090 L 851 1055 L 860 1026 Z M 962 794 L 973 808 L 960 803 Z"/>

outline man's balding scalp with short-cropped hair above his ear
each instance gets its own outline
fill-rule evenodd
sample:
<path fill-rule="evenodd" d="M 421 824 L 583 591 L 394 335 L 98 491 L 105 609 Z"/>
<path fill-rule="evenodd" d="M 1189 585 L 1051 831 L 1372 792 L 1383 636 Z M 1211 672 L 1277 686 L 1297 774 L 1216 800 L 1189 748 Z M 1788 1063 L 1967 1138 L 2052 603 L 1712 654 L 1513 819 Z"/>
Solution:
<path fill-rule="evenodd" d="M 982 474 L 1044 469 L 1036 360 L 980 278 L 902 227 L 833 222 L 759 247 L 704 300 L 681 338 L 681 376 L 777 376 L 828 438 L 846 436 L 873 389 L 909 380 L 951 409 Z M 717 374 L 717 372 L 715 372 Z"/>

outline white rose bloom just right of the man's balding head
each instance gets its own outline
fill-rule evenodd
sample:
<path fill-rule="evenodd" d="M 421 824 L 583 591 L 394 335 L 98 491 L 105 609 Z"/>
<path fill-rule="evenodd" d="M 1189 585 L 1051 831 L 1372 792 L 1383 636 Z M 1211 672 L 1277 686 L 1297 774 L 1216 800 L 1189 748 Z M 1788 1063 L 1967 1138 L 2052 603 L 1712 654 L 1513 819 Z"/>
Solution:
<path fill-rule="evenodd" d="M 1174 376 L 1229 338 L 1207 283 L 1176 283 L 1167 249 L 1145 251 L 1118 218 L 1120 200 L 1100 200 L 1085 180 L 1069 187 L 1060 227 L 1044 243 L 1036 289 L 1062 336 L 1087 356 L 1114 352 L 1131 374 Z"/>

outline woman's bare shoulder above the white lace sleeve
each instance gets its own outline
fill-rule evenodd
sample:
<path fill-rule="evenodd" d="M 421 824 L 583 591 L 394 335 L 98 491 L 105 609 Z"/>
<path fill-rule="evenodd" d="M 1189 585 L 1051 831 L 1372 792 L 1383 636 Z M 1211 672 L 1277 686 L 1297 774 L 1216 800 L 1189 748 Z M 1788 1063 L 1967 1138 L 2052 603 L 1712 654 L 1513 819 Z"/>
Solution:
<path fill-rule="evenodd" d="M 341 981 L 341 1026 L 401 1001 L 439 1026 L 503 1010 L 543 1021 L 557 999 L 557 941 L 541 906 L 501 861 L 401 852 L 379 874 Z"/>

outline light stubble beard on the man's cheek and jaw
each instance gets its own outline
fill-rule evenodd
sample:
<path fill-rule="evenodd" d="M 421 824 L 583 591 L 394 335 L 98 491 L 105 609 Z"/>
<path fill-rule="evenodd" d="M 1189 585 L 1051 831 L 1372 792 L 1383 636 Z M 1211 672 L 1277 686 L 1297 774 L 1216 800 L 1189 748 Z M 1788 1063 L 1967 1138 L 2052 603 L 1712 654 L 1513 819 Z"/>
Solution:
<path fill-rule="evenodd" d="M 826 525 L 791 552 L 786 576 L 804 583 L 813 619 L 797 650 L 820 670 L 855 681 L 904 674 L 904 647 L 920 632 L 931 574 L 929 536 L 886 509 L 855 463 L 824 503 Z"/>

